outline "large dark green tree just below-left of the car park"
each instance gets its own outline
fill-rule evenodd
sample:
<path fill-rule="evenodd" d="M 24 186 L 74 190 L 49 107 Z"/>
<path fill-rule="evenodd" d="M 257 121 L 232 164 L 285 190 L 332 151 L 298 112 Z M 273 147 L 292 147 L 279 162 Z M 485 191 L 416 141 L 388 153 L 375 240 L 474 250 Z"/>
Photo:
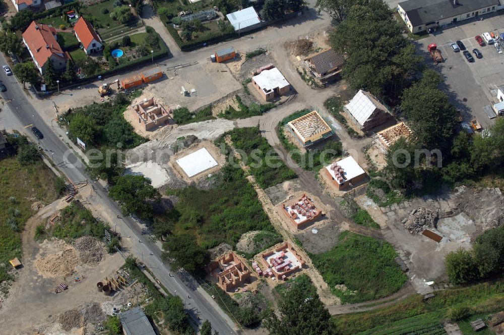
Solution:
<path fill-rule="evenodd" d="M 418 143 L 447 152 L 457 125 L 457 110 L 439 89 L 440 76 L 425 70 L 422 79 L 404 90 L 401 109 Z"/>

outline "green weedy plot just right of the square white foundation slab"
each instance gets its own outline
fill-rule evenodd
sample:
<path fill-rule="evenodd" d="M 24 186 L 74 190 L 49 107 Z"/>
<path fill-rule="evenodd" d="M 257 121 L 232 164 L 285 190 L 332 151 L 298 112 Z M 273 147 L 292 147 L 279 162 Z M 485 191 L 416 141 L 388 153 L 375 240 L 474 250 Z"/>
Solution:
<path fill-rule="evenodd" d="M 261 188 L 268 188 L 296 176 L 261 136 L 257 127 L 235 128 L 226 134 L 231 135 L 234 147 L 246 154 L 242 159 Z"/>

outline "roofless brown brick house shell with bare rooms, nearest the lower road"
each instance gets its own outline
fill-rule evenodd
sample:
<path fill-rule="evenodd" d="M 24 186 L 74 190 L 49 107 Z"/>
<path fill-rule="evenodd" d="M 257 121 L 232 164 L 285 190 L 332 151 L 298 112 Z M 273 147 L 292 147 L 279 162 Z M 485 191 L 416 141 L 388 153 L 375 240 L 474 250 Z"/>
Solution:
<path fill-rule="evenodd" d="M 226 292 L 233 292 L 239 285 L 250 283 L 250 270 L 233 252 L 211 261 L 208 271 L 217 277 L 217 284 Z"/>

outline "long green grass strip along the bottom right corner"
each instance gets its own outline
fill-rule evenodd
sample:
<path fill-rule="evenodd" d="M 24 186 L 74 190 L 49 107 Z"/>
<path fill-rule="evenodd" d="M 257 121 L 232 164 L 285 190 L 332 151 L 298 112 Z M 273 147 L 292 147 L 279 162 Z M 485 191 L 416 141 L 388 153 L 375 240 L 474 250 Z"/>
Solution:
<path fill-rule="evenodd" d="M 452 306 L 470 306 L 472 316 L 459 321 L 464 334 L 475 334 L 467 329 L 467 320 L 486 316 L 502 310 L 504 306 L 504 281 L 483 283 L 460 289 L 436 291 L 436 295 L 423 301 L 420 295 L 412 295 L 394 305 L 369 312 L 334 316 L 334 330 L 341 335 L 410 334 L 417 330 L 429 330 L 429 325 L 440 323 L 447 317 Z M 477 317 L 476 317 L 477 316 Z M 444 332 L 421 332 L 439 334 Z M 478 332 L 481 334 L 482 332 Z"/>

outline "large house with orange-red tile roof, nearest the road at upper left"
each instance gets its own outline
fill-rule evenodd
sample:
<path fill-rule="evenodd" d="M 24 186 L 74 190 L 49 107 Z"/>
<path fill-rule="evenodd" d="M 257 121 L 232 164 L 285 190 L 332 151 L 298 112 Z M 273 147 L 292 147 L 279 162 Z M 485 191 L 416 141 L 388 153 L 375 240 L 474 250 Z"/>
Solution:
<path fill-rule="evenodd" d="M 46 24 L 38 24 L 32 21 L 23 33 L 23 42 L 35 62 L 40 74 L 44 74 L 47 60 L 52 61 L 54 69 L 65 70 L 67 67 L 67 54 L 61 49 L 56 41 L 56 31 Z"/>

